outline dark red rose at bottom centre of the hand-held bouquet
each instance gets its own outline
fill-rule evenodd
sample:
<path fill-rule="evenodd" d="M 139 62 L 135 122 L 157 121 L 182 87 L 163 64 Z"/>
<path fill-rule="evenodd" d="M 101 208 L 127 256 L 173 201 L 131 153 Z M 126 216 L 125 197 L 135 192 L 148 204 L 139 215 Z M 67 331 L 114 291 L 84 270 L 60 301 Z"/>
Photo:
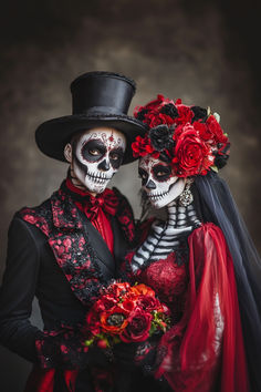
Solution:
<path fill-rule="evenodd" d="M 153 316 L 140 308 L 130 313 L 128 324 L 119 336 L 126 343 L 143 342 L 148 339 Z"/>

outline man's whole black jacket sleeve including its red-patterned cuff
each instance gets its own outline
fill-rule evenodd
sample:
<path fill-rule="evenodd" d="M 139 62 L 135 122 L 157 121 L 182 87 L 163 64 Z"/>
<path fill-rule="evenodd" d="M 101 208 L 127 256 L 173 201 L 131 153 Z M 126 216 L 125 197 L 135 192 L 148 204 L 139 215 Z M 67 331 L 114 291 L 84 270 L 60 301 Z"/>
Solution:
<path fill-rule="evenodd" d="M 7 266 L 0 289 L 0 343 L 41 368 L 107 365 L 101 350 L 88 350 L 79 329 L 41 331 L 29 318 L 41 274 L 41 245 L 35 228 L 14 217 L 8 235 Z M 103 350 L 104 351 L 104 350 Z"/>

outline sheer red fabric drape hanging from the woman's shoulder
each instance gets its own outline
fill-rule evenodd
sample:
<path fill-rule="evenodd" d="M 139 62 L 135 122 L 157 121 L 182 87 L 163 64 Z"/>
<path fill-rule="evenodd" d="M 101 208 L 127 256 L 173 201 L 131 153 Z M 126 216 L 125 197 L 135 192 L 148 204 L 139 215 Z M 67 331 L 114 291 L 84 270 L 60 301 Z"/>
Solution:
<path fill-rule="evenodd" d="M 161 339 L 167 353 L 156 375 L 164 374 L 176 392 L 217 386 L 222 392 L 247 392 L 237 287 L 225 237 L 217 226 L 206 224 L 188 243 L 187 307 L 181 321 Z"/>

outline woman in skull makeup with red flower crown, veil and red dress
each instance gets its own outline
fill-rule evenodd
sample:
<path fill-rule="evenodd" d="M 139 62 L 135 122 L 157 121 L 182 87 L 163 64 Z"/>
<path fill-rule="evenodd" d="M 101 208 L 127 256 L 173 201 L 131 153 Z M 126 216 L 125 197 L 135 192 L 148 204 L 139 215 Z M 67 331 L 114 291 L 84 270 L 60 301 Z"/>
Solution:
<path fill-rule="evenodd" d="M 261 262 L 232 196 L 217 174 L 229 156 L 219 115 L 163 95 L 135 116 L 148 126 L 139 156 L 144 213 L 123 275 L 153 287 L 171 312 L 170 329 L 136 354 L 161 390 L 261 390 Z M 167 382 L 166 382 L 167 381 Z"/>

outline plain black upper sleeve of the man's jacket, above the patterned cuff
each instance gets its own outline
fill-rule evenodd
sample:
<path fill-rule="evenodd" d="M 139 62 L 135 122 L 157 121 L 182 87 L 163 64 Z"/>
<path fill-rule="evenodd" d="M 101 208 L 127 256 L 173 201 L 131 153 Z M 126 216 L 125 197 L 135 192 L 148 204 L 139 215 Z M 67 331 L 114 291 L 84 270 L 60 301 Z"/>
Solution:
<path fill-rule="evenodd" d="M 14 217 L 8 234 L 7 266 L 0 289 L 0 342 L 31 362 L 38 362 L 36 336 L 29 318 L 40 268 L 39 249 L 27 224 Z"/>

